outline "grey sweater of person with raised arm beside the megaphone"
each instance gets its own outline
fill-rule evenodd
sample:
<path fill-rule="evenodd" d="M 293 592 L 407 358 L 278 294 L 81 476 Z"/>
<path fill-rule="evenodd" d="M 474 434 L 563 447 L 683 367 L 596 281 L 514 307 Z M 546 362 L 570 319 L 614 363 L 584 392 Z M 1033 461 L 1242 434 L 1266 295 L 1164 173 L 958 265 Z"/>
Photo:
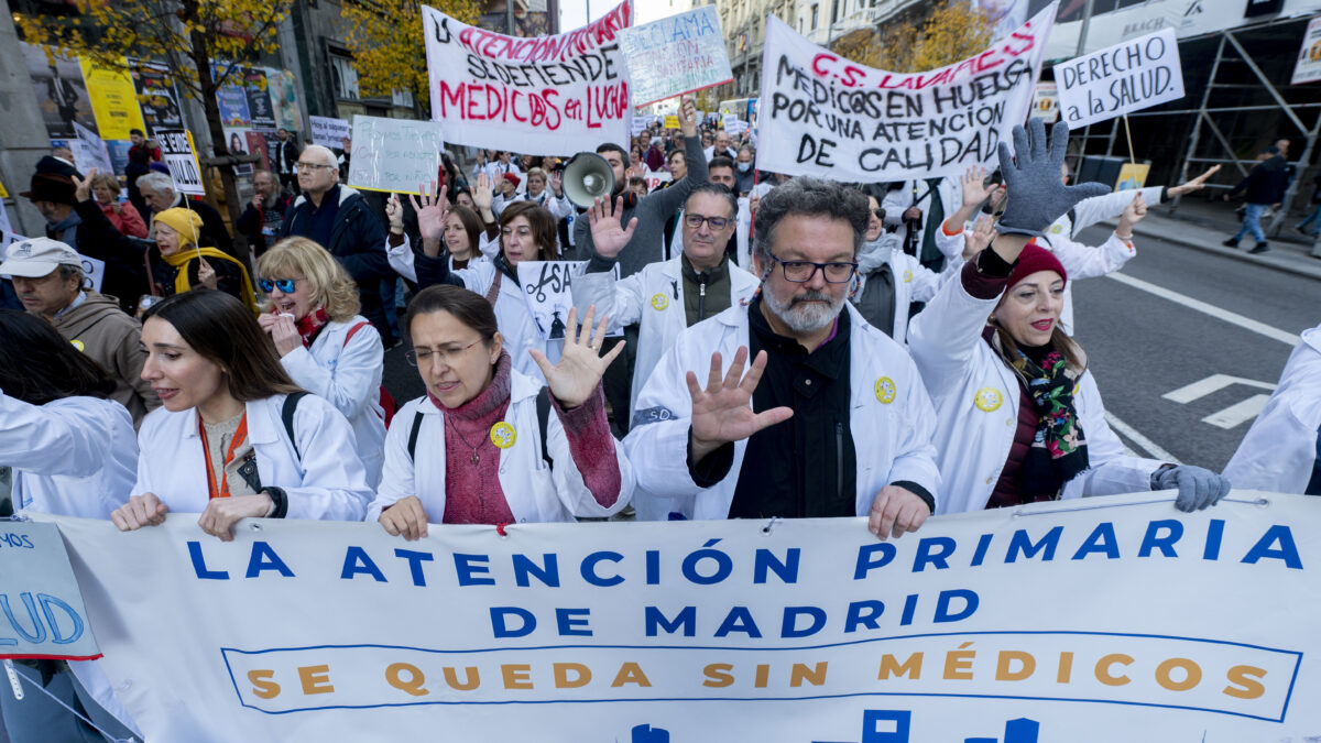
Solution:
<path fill-rule="evenodd" d="M 684 137 L 683 151 L 688 161 L 688 175 L 670 188 L 643 196 L 633 209 L 624 210 L 620 223 L 627 226 L 629 219 L 637 217 L 638 227 L 629 245 L 620 251 L 620 278 L 637 274 L 647 263 L 664 260 L 666 219 L 675 215 L 694 188 L 707 182 L 707 157 L 701 152 L 701 137 Z M 573 221 L 573 242 L 576 243 L 573 259 L 590 260 L 596 256 L 592 226 L 585 215 Z"/>

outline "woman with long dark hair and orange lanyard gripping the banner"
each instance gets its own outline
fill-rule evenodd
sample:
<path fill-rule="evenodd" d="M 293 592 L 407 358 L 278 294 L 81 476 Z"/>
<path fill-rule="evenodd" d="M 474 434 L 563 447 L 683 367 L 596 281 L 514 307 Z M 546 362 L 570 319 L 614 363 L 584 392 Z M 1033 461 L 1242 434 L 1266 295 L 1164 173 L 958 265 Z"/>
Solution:
<path fill-rule="evenodd" d="M 111 514 L 116 526 L 199 512 L 203 531 L 230 541 L 247 517 L 362 518 L 370 489 L 353 428 L 293 383 L 236 299 L 196 290 L 156 304 L 143 345 L 161 407 L 137 434 L 137 494 Z"/>

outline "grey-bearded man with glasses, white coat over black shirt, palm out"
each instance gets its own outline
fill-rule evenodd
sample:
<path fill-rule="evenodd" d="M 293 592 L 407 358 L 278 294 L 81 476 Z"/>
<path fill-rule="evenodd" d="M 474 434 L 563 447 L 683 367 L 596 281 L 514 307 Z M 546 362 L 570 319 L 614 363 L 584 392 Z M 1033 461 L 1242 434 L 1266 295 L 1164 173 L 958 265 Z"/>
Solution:
<path fill-rule="evenodd" d="M 867 206 L 806 177 L 761 201 L 760 295 L 684 331 L 638 397 L 635 497 L 671 518 L 869 516 L 882 539 L 935 510 L 931 401 L 908 352 L 845 301 Z"/>

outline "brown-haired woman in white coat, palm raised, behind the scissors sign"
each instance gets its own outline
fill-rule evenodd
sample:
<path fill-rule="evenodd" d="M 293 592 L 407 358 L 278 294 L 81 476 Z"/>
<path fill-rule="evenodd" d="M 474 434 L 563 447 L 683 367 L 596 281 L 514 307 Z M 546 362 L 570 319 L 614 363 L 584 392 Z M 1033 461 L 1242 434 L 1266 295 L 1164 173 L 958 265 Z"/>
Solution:
<path fill-rule="evenodd" d="M 532 349 L 550 352 L 552 358 L 557 358 L 560 341 L 543 338 L 543 329 L 538 328 L 523 299 L 518 264 L 524 260 L 557 259 L 555 217 L 531 201 L 510 204 L 499 215 L 499 254 L 490 262 L 450 270 L 448 259 L 429 255 L 435 249 L 427 247 L 428 243 L 435 245 L 444 238 L 448 205 L 445 189 L 435 194 L 423 194 L 420 204 L 415 201 L 417 227 L 421 231 L 421 246 L 412 246 L 417 286 L 427 288 L 433 284 L 456 284 L 486 296 L 495 308 L 499 331 L 505 338 L 505 348 L 514 360 L 514 369 L 535 378 L 538 369 L 530 352 Z M 394 230 L 390 241 L 395 250 L 404 245 L 403 235 L 396 237 Z M 550 332 L 550 328 L 544 331 Z"/>

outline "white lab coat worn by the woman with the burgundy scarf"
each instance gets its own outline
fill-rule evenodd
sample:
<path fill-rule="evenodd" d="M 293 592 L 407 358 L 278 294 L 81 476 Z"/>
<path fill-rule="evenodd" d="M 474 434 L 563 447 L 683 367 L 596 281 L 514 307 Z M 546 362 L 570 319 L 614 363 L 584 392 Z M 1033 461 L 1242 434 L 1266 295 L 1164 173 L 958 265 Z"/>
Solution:
<path fill-rule="evenodd" d="M 624 447 L 614 443 L 616 461 L 620 464 L 620 497 L 610 506 L 602 506 L 583 483 L 583 475 L 573 463 L 569 440 L 559 415 L 551 410 L 546 422 L 547 451 L 555 465 L 542 459 L 540 427 L 536 422 L 536 394 L 542 383 L 536 379 L 510 373 L 510 405 L 505 422 L 514 427 L 514 444 L 499 456 L 499 487 L 509 509 L 519 524 L 575 521 L 575 517 L 604 518 L 613 516 L 633 497 L 634 476 Z M 413 418 L 423 416 L 417 431 L 417 457 L 408 456 L 408 438 Z M 427 516 L 440 522 L 445 516 L 445 414 L 420 397 L 404 405 L 395 416 L 396 423 L 386 435 L 386 471 L 376 500 L 367 508 L 367 521 L 379 521 L 380 512 L 408 496 L 421 500 Z M 613 440 L 613 439 L 612 439 Z"/>

